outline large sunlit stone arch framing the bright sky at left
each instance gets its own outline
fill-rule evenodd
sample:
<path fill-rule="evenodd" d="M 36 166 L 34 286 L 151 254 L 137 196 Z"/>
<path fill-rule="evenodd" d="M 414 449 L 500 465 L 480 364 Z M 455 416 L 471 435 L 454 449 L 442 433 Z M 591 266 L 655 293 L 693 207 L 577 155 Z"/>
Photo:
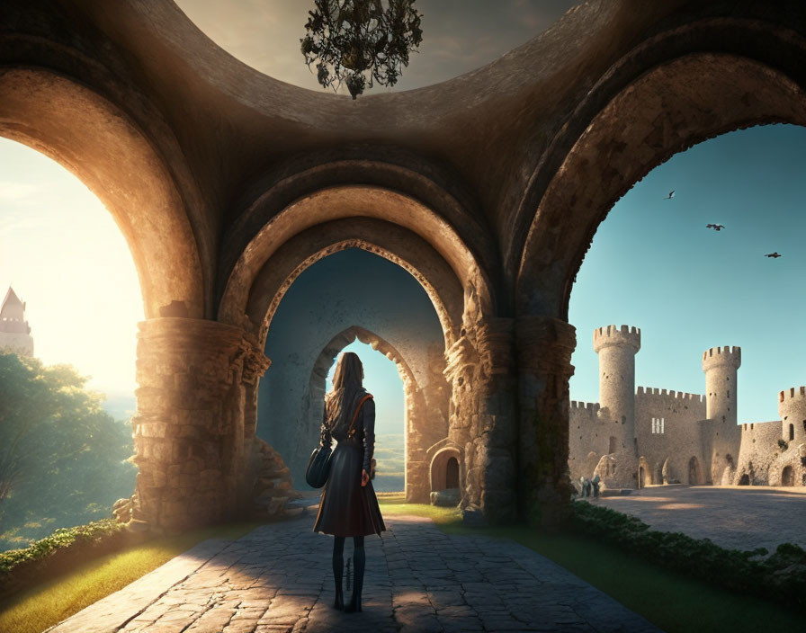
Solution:
<path fill-rule="evenodd" d="M 5 69 L 0 136 L 53 158 L 103 202 L 129 245 L 147 318 L 205 316 L 204 270 L 183 192 L 120 105 L 56 72 Z"/>

